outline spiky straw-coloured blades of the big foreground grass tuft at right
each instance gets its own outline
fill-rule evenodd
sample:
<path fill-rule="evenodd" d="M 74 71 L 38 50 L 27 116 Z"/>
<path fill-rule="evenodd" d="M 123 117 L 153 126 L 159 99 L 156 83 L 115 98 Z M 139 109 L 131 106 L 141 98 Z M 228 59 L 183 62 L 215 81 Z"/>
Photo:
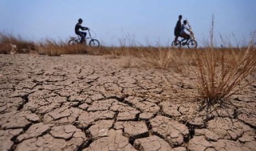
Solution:
<path fill-rule="evenodd" d="M 248 47 L 244 56 L 239 59 L 236 56 L 226 56 L 225 53 L 222 53 L 219 62 L 215 60 L 213 51 L 210 53 L 196 51 L 194 58 L 196 69 L 191 67 L 191 71 L 197 77 L 196 87 L 203 100 L 216 103 L 255 81 L 252 80 L 236 89 L 244 79 L 255 71 L 256 51 L 254 47 Z"/>

